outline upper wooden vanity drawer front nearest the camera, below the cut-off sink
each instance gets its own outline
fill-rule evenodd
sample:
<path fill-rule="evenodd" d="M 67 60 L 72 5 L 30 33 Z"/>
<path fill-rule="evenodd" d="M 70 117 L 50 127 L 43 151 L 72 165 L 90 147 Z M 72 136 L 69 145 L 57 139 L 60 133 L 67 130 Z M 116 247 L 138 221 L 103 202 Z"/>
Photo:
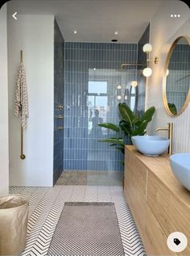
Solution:
<path fill-rule="evenodd" d="M 166 237 L 178 231 L 184 233 L 188 239 L 190 238 L 190 216 L 188 214 L 190 209 L 183 204 L 183 201 L 176 199 L 172 191 L 160 183 L 151 171 L 148 171 L 147 205 L 154 213 Z M 188 245 L 186 250 L 178 255 L 190 255 L 190 246 Z"/>

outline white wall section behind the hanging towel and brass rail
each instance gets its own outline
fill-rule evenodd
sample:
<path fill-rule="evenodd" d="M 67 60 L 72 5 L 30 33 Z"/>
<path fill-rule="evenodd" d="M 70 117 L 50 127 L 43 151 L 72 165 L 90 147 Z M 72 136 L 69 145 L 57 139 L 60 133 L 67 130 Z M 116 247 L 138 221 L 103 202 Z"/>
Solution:
<path fill-rule="evenodd" d="M 10 186 L 52 186 L 53 25 L 52 15 L 8 19 Z M 24 131 L 26 159 L 20 159 L 20 119 L 14 116 L 14 91 L 20 50 L 27 74 L 29 119 Z"/>

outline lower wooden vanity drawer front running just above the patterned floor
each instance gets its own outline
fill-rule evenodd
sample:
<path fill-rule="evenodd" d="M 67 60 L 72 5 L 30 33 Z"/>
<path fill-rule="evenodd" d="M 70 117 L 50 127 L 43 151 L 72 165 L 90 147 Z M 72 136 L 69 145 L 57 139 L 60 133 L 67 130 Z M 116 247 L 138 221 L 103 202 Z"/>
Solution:
<path fill-rule="evenodd" d="M 147 254 L 176 255 L 168 250 L 166 235 L 163 233 L 151 209 L 147 206 L 146 199 L 144 199 L 141 192 L 138 190 L 134 179 L 130 178 L 130 176 L 129 179 L 127 176 L 125 181 L 124 193 Z"/>

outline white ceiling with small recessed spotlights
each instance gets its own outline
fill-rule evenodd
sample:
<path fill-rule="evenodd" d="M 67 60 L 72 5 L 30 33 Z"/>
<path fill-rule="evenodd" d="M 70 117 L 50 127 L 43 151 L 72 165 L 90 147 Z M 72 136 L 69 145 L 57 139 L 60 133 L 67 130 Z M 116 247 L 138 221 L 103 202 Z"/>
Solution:
<path fill-rule="evenodd" d="M 65 41 L 138 43 L 163 1 L 12 0 L 7 6 L 10 15 L 55 15 Z"/>

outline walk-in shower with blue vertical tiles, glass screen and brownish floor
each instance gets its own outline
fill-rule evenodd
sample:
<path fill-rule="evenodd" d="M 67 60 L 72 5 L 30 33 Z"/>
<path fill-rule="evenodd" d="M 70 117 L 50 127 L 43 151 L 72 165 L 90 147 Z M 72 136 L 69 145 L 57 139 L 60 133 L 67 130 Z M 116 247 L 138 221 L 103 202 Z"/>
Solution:
<path fill-rule="evenodd" d="M 118 125 L 118 103 L 142 115 L 147 60 L 142 45 L 148 41 L 149 26 L 138 44 L 64 42 L 55 21 L 54 183 L 122 184 L 122 153 L 100 142 L 116 134 L 97 124 Z M 131 65 L 122 67 L 125 63 Z"/>

